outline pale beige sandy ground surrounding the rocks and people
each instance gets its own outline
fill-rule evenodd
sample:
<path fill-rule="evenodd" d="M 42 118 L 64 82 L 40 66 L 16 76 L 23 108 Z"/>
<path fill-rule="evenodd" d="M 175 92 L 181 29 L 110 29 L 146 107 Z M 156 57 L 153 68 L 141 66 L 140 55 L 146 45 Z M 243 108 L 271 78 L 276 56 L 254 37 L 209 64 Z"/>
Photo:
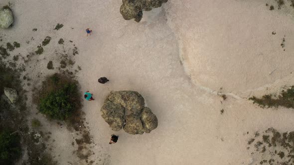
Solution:
<path fill-rule="evenodd" d="M 29 63 L 31 69 L 27 66 L 26 73 L 36 83 L 57 71 L 47 70 L 46 64 L 54 60 L 57 66 L 52 50 L 59 38 L 72 40 L 79 48 L 74 68 L 79 65 L 82 71 L 77 79 L 82 91 L 90 90 L 96 99 L 83 102 L 96 143 L 91 148 L 95 155 L 89 159 L 94 164 L 247 165 L 255 159 L 246 150 L 255 131 L 269 127 L 293 131 L 293 109 L 262 109 L 247 99 L 250 94 L 277 92 L 294 83 L 290 75 L 293 17 L 289 12 L 270 11 L 263 1 L 170 0 L 162 8 L 144 12 L 143 20 L 137 23 L 122 18 L 121 0 L 12 3 L 16 22 L 13 28 L 0 32 L 6 34 L 3 38 L 7 41 L 22 44 L 17 50 L 22 56 L 35 51 L 46 36 L 52 37 L 44 54 L 35 57 L 40 61 L 35 66 Z M 57 23 L 64 27 L 53 30 Z M 88 37 L 87 27 L 93 29 Z M 32 28 L 38 30 L 32 32 Z M 284 35 L 286 51 L 280 46 Z M 26 46 L 32 36 L 34 40 Z M 40 79 L 37 72 L 43 73 Z M 99 77 L 110 82 L 100 84 Z M 157 116 L 158 127 L 136 136 L 111 131 L 100 114 L 107 87 L 141 93 Z M 223 101 L 218 91 L 228 93 L 228 98 Z M 225 110 L 223 115 L 221 109 Z M 60 165 L 86 164 L 72 154 L 77 149 L 71 146 L 74 133 L 46 122 L 41 115 L 38 118 L 56 140 L 51 144 L 52 154 Z M 117 144 L 109 145 L 113 133 L 120 138 Z"/>

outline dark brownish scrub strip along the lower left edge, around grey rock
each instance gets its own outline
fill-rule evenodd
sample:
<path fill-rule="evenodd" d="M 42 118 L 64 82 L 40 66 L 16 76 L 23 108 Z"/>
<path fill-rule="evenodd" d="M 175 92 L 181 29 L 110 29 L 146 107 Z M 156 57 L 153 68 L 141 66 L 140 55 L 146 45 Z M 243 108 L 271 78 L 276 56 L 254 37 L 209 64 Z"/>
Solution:
<path fill-rule="evenodd" d="M 35 144 L 34 140 L 28 134 L 29 128 L 27 126 L 27 114 L 26 104 L 25 104 L 25 90 L 22 89 L 20 78 L 20 71 L 6 67 L 4 63 L 0 60 L 0 95 L 3 94 L 3 87 L 12 87 L 17 90 L 19 94 L 19 99 L 14 106 L 11 106 L 5 99 L 0 97 L 0 132 L 8 130 L 10 136 L 18 136 L 21 138 L 19 148 L 26 150 L 27 160 L 20 160 L 21 165 L 56 165 L 51 158 L 45 159 L 46 157 L 51 157 L 45 153 L 45 144 L 39 143 Z M 20 111 L 20 113 L 19 113 Z M 13 138 L 9 137 L 9 140 Z M 13 149 L 6 148 L 7 150 Z M 16 151 L 13 149 L 13 151 Z M 21 150 L 19 150 L 21 151 Z M 46 157 L 45 157 L 46 155 Z M 17 156 L 9 160 L 9 162 L 17 160 Z M 0 160 L 0 165 L 12 165 L 6 162 L 6 160 Z"/>

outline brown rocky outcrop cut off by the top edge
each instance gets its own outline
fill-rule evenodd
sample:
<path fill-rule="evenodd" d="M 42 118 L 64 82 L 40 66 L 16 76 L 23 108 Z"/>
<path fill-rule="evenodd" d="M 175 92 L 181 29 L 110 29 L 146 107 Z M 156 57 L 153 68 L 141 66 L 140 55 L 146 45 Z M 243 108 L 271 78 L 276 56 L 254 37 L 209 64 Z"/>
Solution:
<path fill-rule="evenodd" d="M 120 12 L 124 19 L 140 22 L 143 17 L 143 11 L 150 11 L 152 8 L 160 7 L 167 0 L 123 0 Z"/>

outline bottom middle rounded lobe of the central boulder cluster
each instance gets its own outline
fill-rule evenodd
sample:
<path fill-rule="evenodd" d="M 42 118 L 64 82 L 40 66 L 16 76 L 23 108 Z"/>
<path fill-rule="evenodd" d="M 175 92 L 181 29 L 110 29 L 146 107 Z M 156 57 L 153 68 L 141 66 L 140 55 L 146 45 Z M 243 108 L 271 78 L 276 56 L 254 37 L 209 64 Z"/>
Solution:
<path fill-rule="evenodd" d="M 135 114 L 130 114 L 126 116 L 126 125 L 124 126 L 124 130 L 132 135 L 142 135 L 144 133 L 144 130 L 140 117 Z"/>

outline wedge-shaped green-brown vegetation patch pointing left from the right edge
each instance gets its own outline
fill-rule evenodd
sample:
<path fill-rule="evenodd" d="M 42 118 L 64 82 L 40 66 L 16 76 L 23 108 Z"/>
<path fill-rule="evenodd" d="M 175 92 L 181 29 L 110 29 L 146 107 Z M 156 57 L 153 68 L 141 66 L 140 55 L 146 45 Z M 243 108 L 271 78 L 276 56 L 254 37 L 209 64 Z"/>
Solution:
<path fill-rule="evenodd" d="M 253 100 L 253 103 L 259 104 L 259 106 L 265 108 L 284 106 L 286 108 L 294 108 L 294 86 L 285 90 L 282 90 L 281 94 L 277 98 L 273 98 L 272 94 L 266 94 L 262 98 L 252 96 L 249 100 Z"/>

